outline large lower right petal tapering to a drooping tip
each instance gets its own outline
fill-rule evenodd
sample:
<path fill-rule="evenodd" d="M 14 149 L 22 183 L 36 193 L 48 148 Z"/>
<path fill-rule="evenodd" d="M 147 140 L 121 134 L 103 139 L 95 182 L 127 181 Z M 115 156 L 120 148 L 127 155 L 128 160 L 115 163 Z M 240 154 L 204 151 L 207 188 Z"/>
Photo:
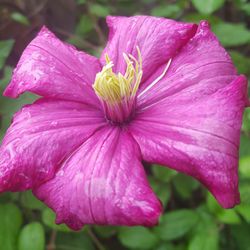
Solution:
<path fill-rule="evenodd" d="M 193 99 L 190 94 L 179 104 L 166 99 L 146 109 L 130 132 L 145 161 L 197 178 L 224 208 L 233 207 L 239 203 L 238 150 L 246 101 L 247 81 L 240 76 L 210 95 Z"/>

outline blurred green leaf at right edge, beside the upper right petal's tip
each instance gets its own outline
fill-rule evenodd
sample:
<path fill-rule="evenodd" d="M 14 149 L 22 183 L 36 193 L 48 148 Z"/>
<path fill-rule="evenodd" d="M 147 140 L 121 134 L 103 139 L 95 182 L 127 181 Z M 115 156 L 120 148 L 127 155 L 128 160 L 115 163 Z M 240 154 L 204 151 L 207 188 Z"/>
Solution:
<path fill-rule="evenodd" d="M 240 46 L 250 42 L 250 31 L 242 23 L 218 23 L 212 29 L 226 47 Z"/>

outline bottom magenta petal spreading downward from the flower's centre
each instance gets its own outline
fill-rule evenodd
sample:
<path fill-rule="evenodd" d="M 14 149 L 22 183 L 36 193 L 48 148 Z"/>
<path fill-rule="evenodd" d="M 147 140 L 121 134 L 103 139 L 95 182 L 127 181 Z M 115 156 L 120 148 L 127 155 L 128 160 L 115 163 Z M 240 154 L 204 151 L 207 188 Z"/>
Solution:
<path fill-rule="evenodd" d="M 57 223 L 154 225 L 161 204 L 149 187 L 137 143 L 119 127 L 105 127 L 64 161 L 35 194 Z"/>

